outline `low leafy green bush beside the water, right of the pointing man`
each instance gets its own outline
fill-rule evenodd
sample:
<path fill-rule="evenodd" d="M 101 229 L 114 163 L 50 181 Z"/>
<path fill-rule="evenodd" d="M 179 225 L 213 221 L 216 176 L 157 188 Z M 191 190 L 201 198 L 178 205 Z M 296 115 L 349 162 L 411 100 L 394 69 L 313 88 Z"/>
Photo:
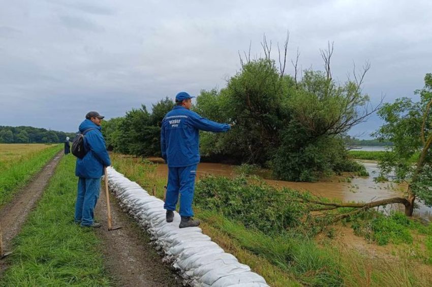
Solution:
<path fill-rule="evenodd" d="M 214 209 L 241 221 L 245 227 L 266 233 L 278 233 L 299 224 L 306 209 L 298 201 L 297 192 L 274 189 L 260 182 L 251 183 L 244 176 L 234 179 L 207 176 L 196 186 L 195 204 Z"/>

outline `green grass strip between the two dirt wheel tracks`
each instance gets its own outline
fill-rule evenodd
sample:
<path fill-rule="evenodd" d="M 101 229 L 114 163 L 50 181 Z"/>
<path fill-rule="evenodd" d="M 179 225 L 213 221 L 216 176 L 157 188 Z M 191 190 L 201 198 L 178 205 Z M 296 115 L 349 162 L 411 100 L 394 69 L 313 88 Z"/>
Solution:
<path fill-rule="evenodd" d="M 75 157 L 65 156 L 38 207 L 14 239 L 0 286 L 104 286 L 101 243 L 91 229 L 72 223 L 77 178 Z"/>

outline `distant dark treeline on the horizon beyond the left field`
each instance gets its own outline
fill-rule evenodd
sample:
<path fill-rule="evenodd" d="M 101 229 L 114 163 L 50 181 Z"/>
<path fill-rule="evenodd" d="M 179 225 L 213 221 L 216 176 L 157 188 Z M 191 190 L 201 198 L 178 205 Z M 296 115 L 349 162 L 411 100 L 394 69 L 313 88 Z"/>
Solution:
<path fill-rule="evenodd" d="M 61 143 L 75 133 L 48 131 L 33 126 L 0 125 L 0 143 Z"/>

